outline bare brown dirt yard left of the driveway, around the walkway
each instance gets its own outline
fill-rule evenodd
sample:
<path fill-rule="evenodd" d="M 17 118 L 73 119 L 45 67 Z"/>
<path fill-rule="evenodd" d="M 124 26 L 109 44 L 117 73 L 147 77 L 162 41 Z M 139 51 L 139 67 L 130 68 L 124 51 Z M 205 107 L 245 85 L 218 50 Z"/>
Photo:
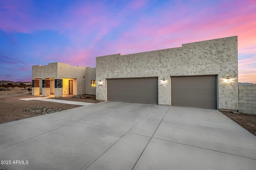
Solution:
<path fill-rule="evenodd" d="M 38 96 L 32 96 L 28 94 L 28 90 L 21 90 L 20 88 L 14 88 L 13 90 L 0 91 L 0 124 L 10 121 L 16 121 L 19 119 L 25 119 L 28 117 L 34 117 L 41 114 L 30 113 L 23 111 L 24 109 L 34 107 L 49 107 L 49 108 L 60 108 L 60 109 L 72 109 L 80 107 L 72 104 L 61 104 L 54 102 L 44 102 L 39 100 L 17 100 L 18 98 L 32 98 Z M 95 96 L 91 96 L 90 99 L 72 99 L 71 96 L 65 98 L 55 98 L 58 100 L 72 100 L 79 102 L 98 103 Z"/>

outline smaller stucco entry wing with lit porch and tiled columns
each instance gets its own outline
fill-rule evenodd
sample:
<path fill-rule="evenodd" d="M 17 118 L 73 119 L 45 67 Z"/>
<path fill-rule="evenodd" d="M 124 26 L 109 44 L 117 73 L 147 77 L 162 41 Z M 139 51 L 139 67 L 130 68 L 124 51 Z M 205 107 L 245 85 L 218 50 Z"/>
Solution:
<path fill-rule="evenodd" d="M 32 95 L 62 97 L 63 94 L 95 95 L 96 69 L 91 67 L 70 66 L 65 63 L 50 63 L 45 66 L 32 66 Z M 96 81 L 95 81 L 96 83 Z"/>

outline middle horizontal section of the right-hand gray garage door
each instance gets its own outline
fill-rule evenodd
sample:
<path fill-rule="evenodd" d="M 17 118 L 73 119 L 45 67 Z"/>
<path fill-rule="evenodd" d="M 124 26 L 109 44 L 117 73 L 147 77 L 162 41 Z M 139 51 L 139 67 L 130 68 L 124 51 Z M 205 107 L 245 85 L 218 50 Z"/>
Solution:
<path fill-rule="evenodd" d="M 210 88 L 201 88 L 201 89 L 172 88 L 172 94 L 216 95 L 216 92 L 214 89 L 210 89 Z"/>

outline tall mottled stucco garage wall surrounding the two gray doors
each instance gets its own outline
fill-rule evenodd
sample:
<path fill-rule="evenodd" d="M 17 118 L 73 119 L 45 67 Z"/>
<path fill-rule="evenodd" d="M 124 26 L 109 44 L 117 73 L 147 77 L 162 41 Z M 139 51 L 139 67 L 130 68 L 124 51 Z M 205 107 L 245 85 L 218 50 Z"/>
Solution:
<path fill-rule="evenodd" d="M 108 78 L 158 77 L 158 104 L 170 105 L 170 76 L 196 75 L 218 75 L 218 108 L 238 110 L 237 36 L 179 48 L 96 57 L 96 99 L 106 100 Z M 230 76 L 230 83 L 223 81 L 226 76 Z M 163 78 L 165 84 L 161 83 Z"/>

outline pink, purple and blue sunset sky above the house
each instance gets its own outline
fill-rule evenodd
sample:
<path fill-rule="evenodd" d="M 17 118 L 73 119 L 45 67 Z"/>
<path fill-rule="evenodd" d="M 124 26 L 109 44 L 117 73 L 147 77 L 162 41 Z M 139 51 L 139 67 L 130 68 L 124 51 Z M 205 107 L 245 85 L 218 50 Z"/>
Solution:
<path fill-rule="evenodd" d="M 236 35 L 239 82 L 256 83 L 256 0 L 0 0 L 0 80 Z"/>

